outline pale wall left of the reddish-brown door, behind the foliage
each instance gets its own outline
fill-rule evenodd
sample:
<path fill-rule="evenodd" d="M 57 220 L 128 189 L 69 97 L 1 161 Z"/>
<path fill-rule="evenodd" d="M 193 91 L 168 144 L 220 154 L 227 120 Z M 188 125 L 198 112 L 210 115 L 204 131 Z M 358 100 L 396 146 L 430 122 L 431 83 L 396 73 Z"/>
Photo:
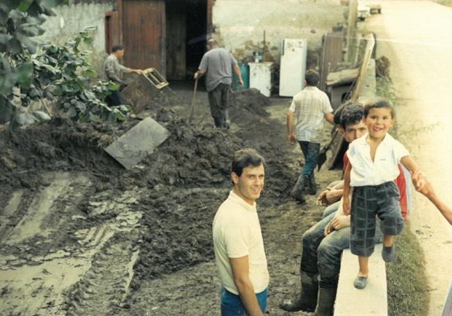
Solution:
<path fill-rule="evenodd" d="M 87 3 L 88 2 L 88 3 Z M 72 3 L 69 6 L 54 8 L 56 17 L 49 17 L 43 24 L 45 33 L 38 40 L 50 41 L 54 44 L 64 44 L 72 40 L 80 31 L 88 26 L 95 26 L 92 34 L 93 42 L 88 46 L 81 45 L 81 49 L 92 51 L 90 57 L 92 65 L 98 74 L 102 74 L 102 64 L 107 56 L 105 51 L 105 13 L 113 10 L 113 3 Z"/>

